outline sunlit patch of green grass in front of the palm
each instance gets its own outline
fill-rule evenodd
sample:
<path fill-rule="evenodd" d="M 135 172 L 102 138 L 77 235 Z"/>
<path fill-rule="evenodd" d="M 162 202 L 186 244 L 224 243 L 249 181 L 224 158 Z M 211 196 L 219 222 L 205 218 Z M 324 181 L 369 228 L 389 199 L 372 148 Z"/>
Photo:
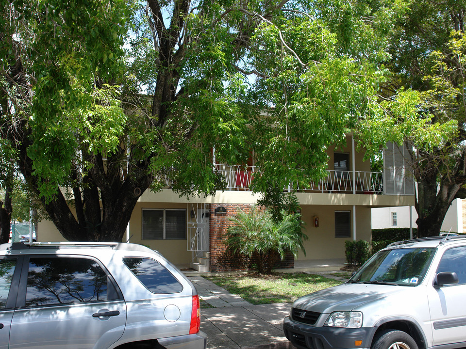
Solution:
<path fill-rule="evenodd" d="M 252 304 L 291 303 L 308 293 L 340 285 L 342 281 L 313 274 L 246 274 L 207 277 Z"/>

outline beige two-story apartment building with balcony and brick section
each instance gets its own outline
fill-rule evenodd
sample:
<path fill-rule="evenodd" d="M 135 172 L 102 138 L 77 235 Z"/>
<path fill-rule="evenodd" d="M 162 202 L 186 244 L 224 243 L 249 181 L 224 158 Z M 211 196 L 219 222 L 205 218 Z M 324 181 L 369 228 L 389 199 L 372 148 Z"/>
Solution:
<path fill-rule="evenodd" d="M 385 151 L 384 171 L 370 171 L 369 161 L 355 149 L 352 135 L 346 146 L 329 147 L 327 176 L 311 183 L 306 190 L 290 184 L 301 206 L 306 255 L 298 260 L 344 259 L 346 240 L 370 240 L 371 208 L 414 205 L 412 179 L 405 175 L 402 154 L 397 147 Z M 254 172 L 248 166 L 227 166 L 215 162 L 227 182 L 227 190 L 203 197 L 180 197 L 169 189 L 147 190 L 133 210 L 125 241 L 147 245 L 160 251 L 179 266 L 202 261 L 196 268 L 211 271 L 244 268 L 243 261 L 232 258 L 223 243 L 232 224 L 228 217 L 239 208 L 249 209 L 259 199 L 249 190 Z M 51 222 L 39 223 L 40 241 L 60 241 L 63 237 Z M 210 260 L 209 260 L 210 257 Z M 285 262 L 292 265 L 289 261 Z"/>

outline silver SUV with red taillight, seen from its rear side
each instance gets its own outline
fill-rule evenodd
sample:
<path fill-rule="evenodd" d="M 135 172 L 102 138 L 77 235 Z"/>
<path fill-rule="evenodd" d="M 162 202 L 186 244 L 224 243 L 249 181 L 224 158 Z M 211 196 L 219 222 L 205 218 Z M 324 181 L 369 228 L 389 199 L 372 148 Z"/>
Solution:
<path fill-rule="evenodd" d="M 196 289 L 125 243 L 0 245 L 0 349 L 205 349 Z"/>

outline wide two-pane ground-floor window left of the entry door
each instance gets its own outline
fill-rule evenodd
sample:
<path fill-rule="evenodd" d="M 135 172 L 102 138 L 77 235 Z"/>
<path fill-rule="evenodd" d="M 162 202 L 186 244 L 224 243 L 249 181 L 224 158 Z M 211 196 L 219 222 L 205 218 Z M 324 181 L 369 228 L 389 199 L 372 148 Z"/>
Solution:
<path fill-rule="evenodd" d="M 144 208 L 142 210 L 143 240 L 185 240 L 186 210 Z"/>

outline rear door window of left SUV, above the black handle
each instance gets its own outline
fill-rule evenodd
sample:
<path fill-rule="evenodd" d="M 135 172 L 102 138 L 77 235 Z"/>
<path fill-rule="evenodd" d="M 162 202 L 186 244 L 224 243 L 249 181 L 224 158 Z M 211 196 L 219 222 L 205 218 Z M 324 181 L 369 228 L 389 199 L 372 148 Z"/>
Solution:
<path fill-rule="evenodd" d="M 29 262 L 26 306 L 107 300 L 107 275 L 86 258 L 38 257 Z"/>

